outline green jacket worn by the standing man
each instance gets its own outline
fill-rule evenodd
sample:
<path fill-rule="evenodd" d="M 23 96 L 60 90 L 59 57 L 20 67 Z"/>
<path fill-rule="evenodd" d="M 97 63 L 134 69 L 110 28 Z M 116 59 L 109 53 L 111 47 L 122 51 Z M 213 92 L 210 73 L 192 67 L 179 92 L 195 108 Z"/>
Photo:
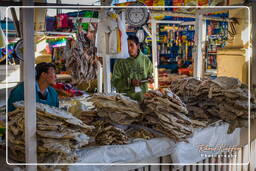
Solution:
<path fill-rule="evenodd" d="M 137 58 L 119 59 L 115 63 L 112 85 L 116 88 L 117 92 L 126 93 L 132 99 L 142 101 L 144 93 L 148 90 L 147 83 L 143 83 L 140 86 L 141 92 L 135 93 L 131 80 L 146 80 L 148 77 L 152 77 L 152 73 L 152 62 L 146 55 L 140 52 Z"/>

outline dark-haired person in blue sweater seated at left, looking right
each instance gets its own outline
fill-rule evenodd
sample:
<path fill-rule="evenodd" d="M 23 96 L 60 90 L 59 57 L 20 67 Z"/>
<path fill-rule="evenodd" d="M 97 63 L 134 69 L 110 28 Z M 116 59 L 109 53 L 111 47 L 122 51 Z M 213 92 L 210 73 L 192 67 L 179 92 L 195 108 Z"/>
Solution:
<path fill-rule="evenodd" d="M 55 66 L 42 62 L 36 65 L 36 102 L 59 107 L 58 94 L 51 85 L 56 84 Z M 10 93 L 8 111 L 15 109 L 14 102 L 24 100 L 24 83 L 17 85 Z"/>

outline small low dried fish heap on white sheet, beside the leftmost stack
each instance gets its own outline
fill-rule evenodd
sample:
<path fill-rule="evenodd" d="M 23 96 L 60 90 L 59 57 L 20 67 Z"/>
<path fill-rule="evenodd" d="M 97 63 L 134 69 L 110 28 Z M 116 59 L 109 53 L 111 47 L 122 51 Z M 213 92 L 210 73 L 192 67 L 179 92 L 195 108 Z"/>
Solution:
<path fill-rule="evenodd" d="M 99 120 L 94 122 L 96 127 L 95 142 L 98 145 L 121 145 L 128 143 L 125 132 L 113 125 Z"/>

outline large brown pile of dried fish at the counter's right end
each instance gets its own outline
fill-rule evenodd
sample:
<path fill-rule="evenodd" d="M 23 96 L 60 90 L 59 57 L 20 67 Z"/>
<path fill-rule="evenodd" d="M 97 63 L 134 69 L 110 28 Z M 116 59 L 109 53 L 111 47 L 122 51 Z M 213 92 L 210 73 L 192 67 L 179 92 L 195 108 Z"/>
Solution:
<path fill-rule="evenodd" d="M 256 118 L 256 98 L 251 94 L 248 99 L 248 87 L 236 78 L 218 77 L 203 81 L 185 78 L 172 82 L 170 89 L 187 105 L 193 118 L 226 121 L 231 125 L 228 133 L 248 124 L 248 102 L 251 118 Z"/>

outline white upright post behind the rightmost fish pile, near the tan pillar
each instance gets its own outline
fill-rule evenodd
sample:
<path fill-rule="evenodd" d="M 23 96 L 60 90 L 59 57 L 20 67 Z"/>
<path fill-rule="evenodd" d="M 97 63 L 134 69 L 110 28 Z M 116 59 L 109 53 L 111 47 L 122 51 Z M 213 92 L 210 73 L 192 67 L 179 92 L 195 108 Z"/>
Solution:
<path fill-rule="evenodd" d="M 205 36 L 206 36 L 206 21 L 203 21 L 203 15 L 196 14 L 195 25 L 195 53 L 194 57 L 194 77 L 201 79 L 203 77 L 203 52 L 205 48 Z"/>

